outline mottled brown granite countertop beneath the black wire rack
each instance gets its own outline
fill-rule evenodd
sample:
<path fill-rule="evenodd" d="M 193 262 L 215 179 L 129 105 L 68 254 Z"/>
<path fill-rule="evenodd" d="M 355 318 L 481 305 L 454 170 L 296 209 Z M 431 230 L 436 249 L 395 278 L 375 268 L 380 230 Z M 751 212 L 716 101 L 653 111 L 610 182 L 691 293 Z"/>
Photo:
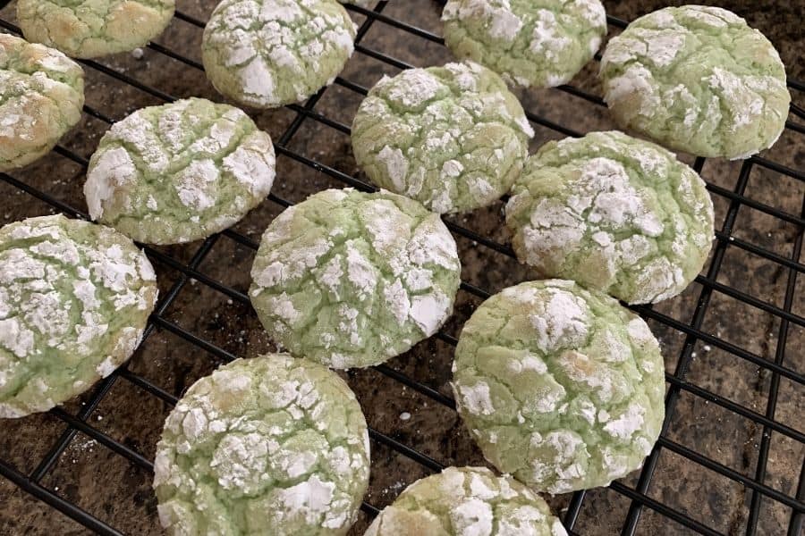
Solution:
<path fill-rule="evenodd" d="M 709 4 L 709 2 L 706 2 Z M 206 20 L 215 0 L 180 0 L 179 8 Z M 605 2 L 610 14 L 631 20 L 642 13 L 668 4 L 657 1 L 629 0 Z M 674 3 L 682 4 L 682 3 Z M 783 57 L 789 76 L 805 80 L 805 33 L 802 32 L 805 2 L 773 2 L 770 0 L 741 0 L 723 2 L 727 7 L 763 31 Z M 13 21 L 10 4 L 0 10 L 0 18 Z M 386 14 L 415 26 L 440 32 L 440 4 L 431 0 L 393 0 Z M 360 15 L 356 21 L 362 21 Z M 612 35 L 612 31 L 610 32 Z M 191 24 L 174 20 L 158 42 L 199 61 L 201 30 Z M 444 63 L 450 59 L 445 48 L 424 39 L 375 23 L 362 41 L 364 46 L 382 51 L 417 66 Z M 145 49 L 140 58 L 133 54 L 118 54 L 100 60 L 126 76 L 160 88 L 172 96 L 204 96 L 222 100 L 205 80 L 203 73 L 177 62 L 152 49 Z M 573 85 L 600 95 L 595 80 L 595 63 L 588 65 L 573 81 Z M 156 96 L 87 68 L 87 104 L 121 119 L 143 105 L 160 104 Z M 384 74 L 394 74 L 393 67 L 378 62 L 367 54 L 355 54 L 343 72 L 343 78 L 370 86 Z M 614 128 L 606 109 L 569 96 L 559 90 L 521 92 L 523 104 L 530 111 L 574 130 L 605 130 Z M 798 105 L 805 105 L 802 94 L 794 95 Z M 350 124 L 360 96 L 347 88 L 335 85 L 326 90 L 316 111 L 327 117 Z M 277 139 L 294 120 L 288 109 L 251 113 L 258 125 Z M 85 114 L 80 125 L 64 139 L 64 146 L 84 157 L 97 145 L 107 125 Z M 531 143 L 535 150 L 548 139 L 561 138 L 553 130 L 537 126 Z M 786 130 L 783 137 L 763 156 L 797 170 L 805 169 L 805 137 Z M 314 121 L 304 121 L 288 141 L 287 147 L 336 170 L 357 174 L 350 151 L 349 137 Z M 690 157 L 683 159 L 691 163 Z M 703 176 L 723 188 L 736 185 L 740 162 L 708 160 Z M 35 188 L 47 191 L 57 200 L 85 209 L 81 187 L 83 170 L 61 155 L 49 155 L 13 177 Z M 341 187 L 340 182 L 326 174 L 280 156 L 277 160 L 277 180 L 274 192 L 290 201 L 300 201 L 322 188 Z M 789 214 L 801 214 L 805 182 L 755 166 L 746 186 L 746 196 L 772 205 Z M 0 181 L 0 224 L 24 217 L 51 214 L 52 208 L 35 197 Z M 714 196 L 716 229 L 721 229 L 730 200 Z M 452 220 L 483 235 L 505 242 L 508 237 L 503 226 L 502 205 L 480 210 L 469 216 Z M 266 202 L 254 210 L 236 229 L 251 239 L 259 239 L 267 222 L 279 214 L 281 207 Z M 794 240 L 801 229 L 790 222 L 741 206 L 733 226 L 736 239 L 767 248 L 778 255 L 790 257 Z M 496 291 L 530 278 L 529 272 L 513 259 L 478 245 L 470 239 L 457 239 L 463 263 L 463 281 L 482 289 Z M 188 262 L 199 243 L 182 247 L 161 247 L 167 255 Z M 249 286 L 249 270 L 253 252 L 232 239 L 216 241 L 211 253 L 199 264 L 199 270 L 216 281 L 245 291 Z M 797 259 L 794 259 L 797 260 Z M 801 262 L 801 260 L 800 260 Z M 170 266 L 155 263 L 162 296 L 176 281 L 180 272 Z M 789 272 L 783 266 L 752 255 L 740 247 L 730 246 L 717 281 L 748 293 L 751 297 L 783 306 Z M 803 278 L 800 276 L 794 295 L 792 312 L 805 315 Z M 655 310 L 683 323 L 691 322 L 702 287 L 691 285 L 681 296 L 658 305 Z M 457 335 L 479 299 L 460 292 L 453 319 L 445 332 Z M 208 286 L 191 281 L 165 311 L 164 317 L 182 329 L 215 344 L 235 356 L 256 356 L 273 349 L 249 306 L 229 299 Z M 684 344 L 679 331 L 649 321 L 661 340 L 666 370 L 674 373 Z M 778 345 L 778 317 L 749 306 L 721 292 L 710 298 L 707 314 L 701 320 L 701 330 L 727 340 L 763 359 L 774 360 Z M 784 353 L 784 365 L 795 371 L 805 370 L 805 328 L 792 323 Z M 771 374 L 748 361 L 721 349 L 698 342 L 693 348 L 687 380 L 717 395 L 730 398 L 751 411 L 764 414 Z M 210 373 L 223 363 L 220 356 L 193 346 L 171 331 L 157 329 L 131 358 L 130 370 L 162 389 L 178 396 L 193 381 Z M 411 352 L 389 362 L 395 370 L 449 394 L 448 381 L 452 363 L 452 348 L 433 338 L 420 343 Z M 483 458 L 475 448 L 455 412 L 440 406 L 401 383 L 375 370 L 352 371 L 345 374 L 355 390 L 367 415 L 369 425 L 394 440 L 416 448 L 445 465 L 480 465 Z M 80 411 L 89 395 L 74 399 L 64 406 L 71 414 Z M 775 419 L 801 430 L 801 415 L 805 406 L 803 389 L 792 381 L 780 381 Z M 130 381 L 114 381 L 108 395 L 89 415 L 89 424 L 128 448 L 153 459 L 162 423 L 170 407 L 159 398 Z M 21 473 L 31 473 L 39 460 L 64 432 L 66 425 L 54 415 L 32 415 L 20 420 L 0 421 L 0 459 L 12 464 Z M 704 398 L 682 392 L 671 419 L 667 438 L 690 448 L 733 471 L 754 476 L 762 427 L 735 415 Z M 793 496 L 805 456 L 805 446 L 779 433 L 772 434 L 765 483 L 775 490 Z M 391 448 L 372 443 L 372 477 L 367 500 L 383 507 L 409 483 L 425 476 L 428 469 L 412 462 Z M 639 473 L 623 479 L 623 484 L 636 485 Z M 151 474 L 123 456 L 78 433 L 52 469 L 44 476 L 43 486 L 55 490 L 62 498 L 77 504 L 90 514 L 127 534 L 160 534 L 157 523 L 157 504 L 150 488 Z M 658 502 L 682 511 L 684 515 L 728 534 L 744 533 L 749 515 L 750 490 L 739 482 L 711 472 L 689 459 L 663 449 L 657 472 L 648 495 Z M 549 498 L 556 512 L 562 512 L 569 495 Z M 630 507 L 630 500 L 610 489 L 590 490 L 584 499 L 574 531 L 585 535 L 617 534 Z M 791 510 L 770 498 L 760 505 L 758 534 L 777 535 L 786 531 Z M 351 534 L 362 534 L 367 517 L 360 515 Z M 70 518 L 47 507 L 42 502 L 0 478 L 0 534 L 59 534 L 89 533 Z M 637 526 L 639 534 L 691 533 L 644 508 Z"/>

